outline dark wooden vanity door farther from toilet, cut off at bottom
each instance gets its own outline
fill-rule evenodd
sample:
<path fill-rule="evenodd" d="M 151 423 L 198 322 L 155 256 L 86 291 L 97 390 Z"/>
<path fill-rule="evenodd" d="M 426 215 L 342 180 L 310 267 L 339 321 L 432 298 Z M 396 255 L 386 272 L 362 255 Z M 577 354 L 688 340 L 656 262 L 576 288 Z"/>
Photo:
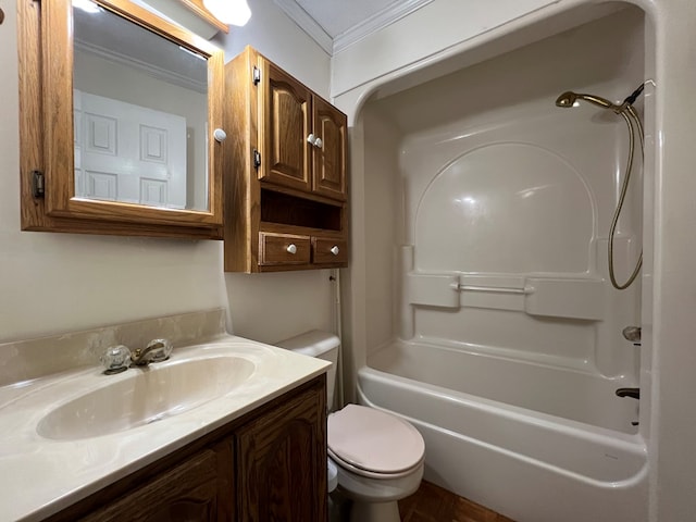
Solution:
<path fill-rule="evenodd" d="M 232 522 L 232 443 L 206 449 L 133 493 L 92 511 L 84 522 Z M 227 473 L 221 474 L 221 470 Z"/>

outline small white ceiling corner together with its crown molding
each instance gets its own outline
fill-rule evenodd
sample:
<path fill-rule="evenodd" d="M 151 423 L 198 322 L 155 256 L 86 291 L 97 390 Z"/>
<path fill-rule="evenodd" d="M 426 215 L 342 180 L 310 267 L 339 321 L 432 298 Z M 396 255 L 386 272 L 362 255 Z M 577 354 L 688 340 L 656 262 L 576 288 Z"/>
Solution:
<path fill-rule="evenodd" d="M 333 55 L 432 1 L 275 0 L 275 3 Z"/>

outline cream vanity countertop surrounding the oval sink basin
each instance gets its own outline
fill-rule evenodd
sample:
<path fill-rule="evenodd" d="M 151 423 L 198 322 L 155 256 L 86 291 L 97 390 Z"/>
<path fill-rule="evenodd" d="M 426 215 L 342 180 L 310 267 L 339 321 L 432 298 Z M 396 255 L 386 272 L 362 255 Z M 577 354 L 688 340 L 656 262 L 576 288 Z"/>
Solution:
<path fill-rule="evenodd" d="M 144 370 L 103 375 L 100 366 L 83 366 L 0 387 L 0 520 L 34 521 L 53 514 L 328 366 L 320 359 L 223 335 L 210 343 L 175 348 L 170 361 L 150 368 L 225 355 L 256 365 L 252 376 L 227 395 L 152 424 L 88 438 L 45 438 L 36 426 L 58 406 Z"/>

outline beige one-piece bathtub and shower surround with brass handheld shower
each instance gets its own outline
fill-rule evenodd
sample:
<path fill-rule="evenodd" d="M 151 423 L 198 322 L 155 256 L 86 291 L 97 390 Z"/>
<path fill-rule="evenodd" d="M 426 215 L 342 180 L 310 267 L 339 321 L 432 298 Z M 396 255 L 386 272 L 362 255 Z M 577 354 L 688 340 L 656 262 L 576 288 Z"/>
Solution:
<path fill-rule="evenodd" d="M 613 9 L 374 94 L 360 114 L 359 400 L 421 431 L 426 480 L 521 522 L 646 517 L 641 119 L 655 85 L 643 91 L 644 13 Z"/>

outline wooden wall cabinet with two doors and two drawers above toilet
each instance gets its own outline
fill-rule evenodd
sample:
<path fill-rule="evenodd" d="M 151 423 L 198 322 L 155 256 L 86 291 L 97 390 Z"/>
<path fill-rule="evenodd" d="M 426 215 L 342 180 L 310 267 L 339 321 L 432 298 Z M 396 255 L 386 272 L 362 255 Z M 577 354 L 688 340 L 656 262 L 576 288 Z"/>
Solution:
<path fill-rule="evenodd" d="M 225 90 L 225 271 L 347 266 L 346 115 L 250 47 Z"/>

